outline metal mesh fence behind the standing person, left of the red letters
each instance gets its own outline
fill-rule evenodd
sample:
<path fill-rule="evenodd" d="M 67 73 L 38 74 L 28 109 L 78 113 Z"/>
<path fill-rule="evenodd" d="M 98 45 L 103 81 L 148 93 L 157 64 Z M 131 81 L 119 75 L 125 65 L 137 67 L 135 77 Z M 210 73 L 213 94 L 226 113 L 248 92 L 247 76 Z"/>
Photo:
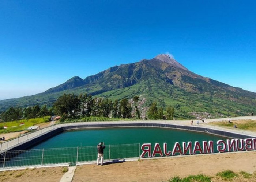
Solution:
<path fill-rule="evenodd" d="M 104 162 L 136 160 L 139 157 L 139 143 L 107 145 L 104 150 Z M 0 170 L 33 166 L 76 165 L 96 163 L 96 161 L 97 148 L 95 146 L 5 151 L 0 156 Z"/>

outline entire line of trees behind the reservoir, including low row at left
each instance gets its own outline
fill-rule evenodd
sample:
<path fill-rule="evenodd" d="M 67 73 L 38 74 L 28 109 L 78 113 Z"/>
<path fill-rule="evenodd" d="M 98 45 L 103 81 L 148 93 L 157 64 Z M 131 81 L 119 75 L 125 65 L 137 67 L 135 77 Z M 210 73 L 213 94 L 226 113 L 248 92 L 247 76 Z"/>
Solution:
<path fill-rule="evenodd" d="M 0 115 L 2 122 L 14 121 L 20 119 L 31 119 L 49 115 L 61 116 L 61 120 L 79 119 L 84 117 L 105 117 L 105 118 L 132 118 L 132 111 L 135 110 L 134 118 L 141 119 L 141 113 L 137 106 L 139 97 L 133 97 L 135 105 L 132 107 L 131 102 L 124 98 L 121 100 L 110 100 L 108 98 L 96 98 L 91 95 L 80 94 L 63 94 L 56 102 L 53 108 L 48 110 L 46 106 L 39 105 L 27 108 L 10 107 Z M 157 108 L 157 103 L 153 102 L 148 110 L 148 119 L 173 119 L 174 108 L 167 107 L 164 117 L 163 107 Z M 147 117 L 146 117 L 147 119 Z"/>

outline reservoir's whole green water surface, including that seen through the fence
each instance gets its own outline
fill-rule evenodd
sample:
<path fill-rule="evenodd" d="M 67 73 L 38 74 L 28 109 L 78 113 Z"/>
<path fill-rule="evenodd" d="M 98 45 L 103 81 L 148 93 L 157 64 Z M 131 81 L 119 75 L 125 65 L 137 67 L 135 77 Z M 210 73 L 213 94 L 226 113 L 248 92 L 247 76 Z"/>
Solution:
<path fill-rule="evenodd" d="M 164 151 L 163 143 L 167 143 L 167 150 L 173 150 L 175 143 L 196 141 L 226 140 L 228 138 L 208 134 L 160 127 L 108 127 L 87 128 L 83 130 L 65 130 L 57 135 L 39 142 L 28 150 L 8 151 L 0 161 L 0 167 L 19 166 L 48 166 L 48 165 L 76 165 L 95 163 L 99 142 L 104 142 L 105 161 L 137 160 L 143 153 L 142 145 L 150 144 L 154 150 L 155 143 L 159 143 L 157 150 Z M 213 153 L 217 153 L 217 145 Z M 150 152 L 149 152 L 150 153 Z M 199 154 L 197 151 L 195 154 Z M 175 154 L 176 155 L 176 154 Z M 150 155 L 149 155 L 150 156 Z M 159 157 L 156 154 L 155 157 Z"/>

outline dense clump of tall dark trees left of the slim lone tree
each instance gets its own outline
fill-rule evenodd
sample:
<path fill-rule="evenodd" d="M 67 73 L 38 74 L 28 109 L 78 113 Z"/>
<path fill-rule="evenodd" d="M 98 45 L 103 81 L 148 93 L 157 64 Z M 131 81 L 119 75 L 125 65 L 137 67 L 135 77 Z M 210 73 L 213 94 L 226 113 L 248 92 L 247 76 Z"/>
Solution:
<path fill-rule="evenodd" d="M 131 118 L 132 106 L 128 99 L 109 100 L 93 98 L 91 95 L 64 94 L 53 104 L 54 113 L 62 117 L 77 119 L 83 117 Z"/>

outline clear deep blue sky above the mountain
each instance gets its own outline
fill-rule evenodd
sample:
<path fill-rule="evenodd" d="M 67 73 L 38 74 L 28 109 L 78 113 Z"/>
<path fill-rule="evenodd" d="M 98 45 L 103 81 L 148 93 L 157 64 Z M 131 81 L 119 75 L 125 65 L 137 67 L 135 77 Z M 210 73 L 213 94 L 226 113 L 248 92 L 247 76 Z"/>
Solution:
<path fill-rule="evenodd" d="M 0 100 L 111 66 L 174 58 L 256 92 L 256 1 L 1 0 Z"/>

